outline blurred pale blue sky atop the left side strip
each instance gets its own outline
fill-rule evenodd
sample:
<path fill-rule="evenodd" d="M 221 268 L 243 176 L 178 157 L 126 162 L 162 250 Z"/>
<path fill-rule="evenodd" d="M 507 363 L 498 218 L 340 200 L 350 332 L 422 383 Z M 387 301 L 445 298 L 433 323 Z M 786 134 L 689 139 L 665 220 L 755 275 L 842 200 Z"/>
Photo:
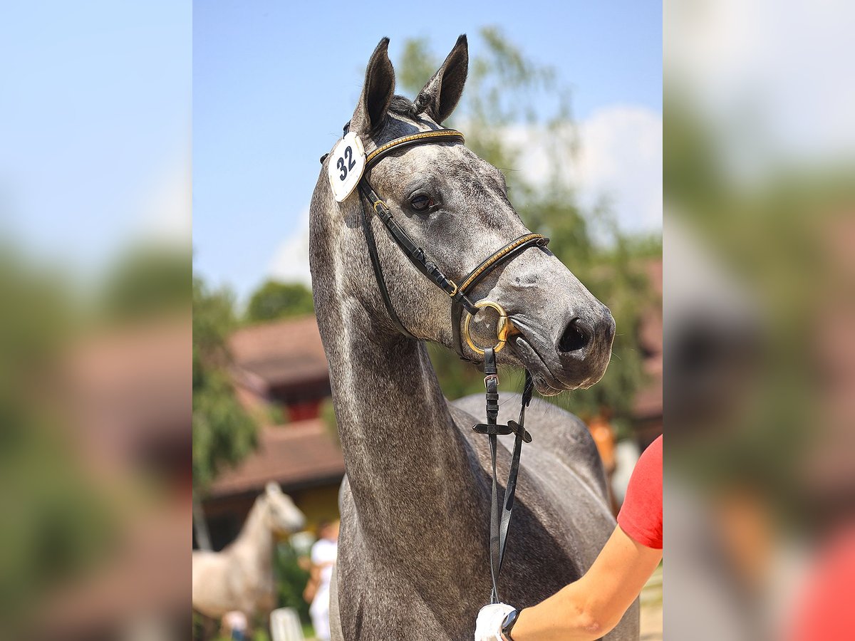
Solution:
<path fill-rule="evenodd" d="M 173 0 L 3 3 L 0 234 L 96 272 L 155 227 L 180 235 L 191 34 Z"/>

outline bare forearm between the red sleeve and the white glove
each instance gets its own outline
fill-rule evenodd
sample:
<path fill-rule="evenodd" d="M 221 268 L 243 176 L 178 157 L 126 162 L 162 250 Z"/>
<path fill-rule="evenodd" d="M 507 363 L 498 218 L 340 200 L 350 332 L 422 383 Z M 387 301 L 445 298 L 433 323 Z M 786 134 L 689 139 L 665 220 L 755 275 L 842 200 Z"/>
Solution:
<path fill-rule="evenodd" d="M 620 526 L 578 581 L 523 609 L 514 641 L 593 641 L 617 625 L 662 559 L 662 550 L 636 543 Z"/>

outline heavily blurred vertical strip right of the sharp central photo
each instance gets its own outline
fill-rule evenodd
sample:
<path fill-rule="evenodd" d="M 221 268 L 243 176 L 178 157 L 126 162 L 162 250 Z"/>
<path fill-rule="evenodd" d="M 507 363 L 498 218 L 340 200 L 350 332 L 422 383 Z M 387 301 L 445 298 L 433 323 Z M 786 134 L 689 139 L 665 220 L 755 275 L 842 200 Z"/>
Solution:
<path fill-rule="evenodd" d="M 664 14 L 665 631 L 852 638 L 852 3 Z"/>

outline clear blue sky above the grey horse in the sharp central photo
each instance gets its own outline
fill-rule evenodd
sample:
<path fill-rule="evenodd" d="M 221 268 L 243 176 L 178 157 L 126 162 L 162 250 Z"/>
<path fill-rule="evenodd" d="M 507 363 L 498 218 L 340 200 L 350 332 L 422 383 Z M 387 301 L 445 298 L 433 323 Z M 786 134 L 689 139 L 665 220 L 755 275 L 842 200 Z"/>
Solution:
<path fill-rule="evenodd" d="M 195 3 L 193 247 L 205 279 L 245 296 L 271 272 L 298 233 L 318 157 L 350 118 L 383 36 L 392 38 L 394 64 L 406 38 L 428 38 L 441 59 L 465 32 L 474 56 L 481 26 L 498 26 L 534 61 L 557 68 L 580 121 L 615 105 L 661 120 L 659 3 L 393 6 Z"/>

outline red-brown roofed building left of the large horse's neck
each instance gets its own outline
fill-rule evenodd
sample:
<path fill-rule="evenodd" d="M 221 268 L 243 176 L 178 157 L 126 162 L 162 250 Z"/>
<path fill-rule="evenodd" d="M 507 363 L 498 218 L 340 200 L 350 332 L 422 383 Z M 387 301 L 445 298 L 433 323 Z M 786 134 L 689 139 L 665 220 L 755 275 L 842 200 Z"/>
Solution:
<path fill-rule="evenodd" d="M 238 535 L 270 480 L 292 497 L 310 526 L 337 518 L 345 474 L 332 410 L 322 412 L 330 407 L 330 384 L 315 317 L 244 327 L 229 347 L 238 397 L 262 425 L 257 451 L 216 479 L 203 502 L 215 550 Z"/>

